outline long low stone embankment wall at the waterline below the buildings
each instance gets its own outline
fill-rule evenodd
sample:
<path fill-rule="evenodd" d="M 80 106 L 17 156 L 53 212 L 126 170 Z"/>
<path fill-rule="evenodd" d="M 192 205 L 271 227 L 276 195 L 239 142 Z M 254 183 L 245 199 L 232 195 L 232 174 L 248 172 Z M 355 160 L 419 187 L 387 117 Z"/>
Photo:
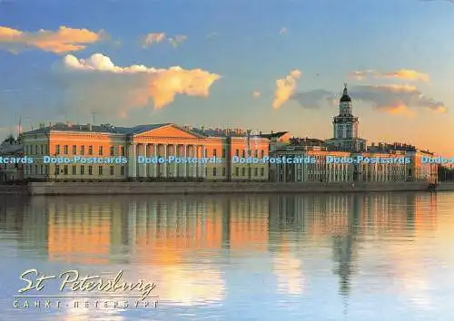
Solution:
<path fill-rule="evenodd" d="M 428 190 L 428 183 L 280 183 L 280 182 L 36 182 L 31 195 L 304 193 Z"/>

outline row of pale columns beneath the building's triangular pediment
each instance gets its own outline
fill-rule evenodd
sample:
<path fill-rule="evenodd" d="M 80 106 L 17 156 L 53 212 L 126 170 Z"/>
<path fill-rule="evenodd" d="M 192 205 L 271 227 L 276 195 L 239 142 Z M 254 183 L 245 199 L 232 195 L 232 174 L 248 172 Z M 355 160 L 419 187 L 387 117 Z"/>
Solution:
<path fill-rule="evenodd" d="M 129 178 L 206 178 L 206 166 L 200 159 L 206 155 L 204 145 L 168 144 L 168 143 L 136 143 L 128 147 Z M 139 156 L 144 158 L 157 157 L 165 162 L 139 163 Z M 169 158 L 196 158 L 196 162 L 177 163 Z"/>

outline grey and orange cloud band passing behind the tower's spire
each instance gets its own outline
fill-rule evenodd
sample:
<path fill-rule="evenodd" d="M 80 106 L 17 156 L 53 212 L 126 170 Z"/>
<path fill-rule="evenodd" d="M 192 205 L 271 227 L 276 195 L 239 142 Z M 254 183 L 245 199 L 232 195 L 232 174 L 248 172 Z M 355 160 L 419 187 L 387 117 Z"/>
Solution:
<path fill-rule="evenodd" d="M 426 97 L 415 86 L 409 85 L 363 85 L 349 89 L 349 94 L 354 101 L 366 102 L 377 111 L 390 114 L 413 116 L 419 108 L 429 109 L 433 112 L 447 112 L 448 108 L 443 102 L 437 102 Z M 310 92 L 295 92 L 291 99 L 296 100 L 304 108 L 320 108 L 322 102 L 331 105 L 336 98 L 334 92 L 318 89 Z"/>

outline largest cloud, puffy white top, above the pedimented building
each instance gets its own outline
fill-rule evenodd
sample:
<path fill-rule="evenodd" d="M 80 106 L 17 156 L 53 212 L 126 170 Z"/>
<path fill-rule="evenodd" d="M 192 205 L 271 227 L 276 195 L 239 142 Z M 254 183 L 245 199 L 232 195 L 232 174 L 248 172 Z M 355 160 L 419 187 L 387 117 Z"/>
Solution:
<path fill-rule="evenodd" d="M 207 97 L 220 75 L 201 69 L 175 66 L 155 69 L 144 65 L 121 67 L 102 53 L 88 59 L 67 54 L 54 65 L 58 83 L 64 86 L 67 108 L 116 113 L 126 117 L 133 108 L 154 103 L 156 109 L 173 102 L 176 94 Z"/>

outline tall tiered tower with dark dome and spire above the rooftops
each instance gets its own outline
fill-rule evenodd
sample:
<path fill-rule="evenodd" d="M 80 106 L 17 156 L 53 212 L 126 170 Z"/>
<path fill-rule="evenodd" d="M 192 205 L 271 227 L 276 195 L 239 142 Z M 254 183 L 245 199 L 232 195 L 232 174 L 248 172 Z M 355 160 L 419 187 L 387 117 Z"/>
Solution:
<path fill-rule="evenodd" d="M 359 138 L 359 123 L 358 117 L 353 116 L 353 103 L 347 83 L 344 83 L 339 102 L 339 114 L 334 117 L 332 122 L 333 138 L 326 142 L 339 151 L 364 151 L 366 149 L 366 140 Z"/>

